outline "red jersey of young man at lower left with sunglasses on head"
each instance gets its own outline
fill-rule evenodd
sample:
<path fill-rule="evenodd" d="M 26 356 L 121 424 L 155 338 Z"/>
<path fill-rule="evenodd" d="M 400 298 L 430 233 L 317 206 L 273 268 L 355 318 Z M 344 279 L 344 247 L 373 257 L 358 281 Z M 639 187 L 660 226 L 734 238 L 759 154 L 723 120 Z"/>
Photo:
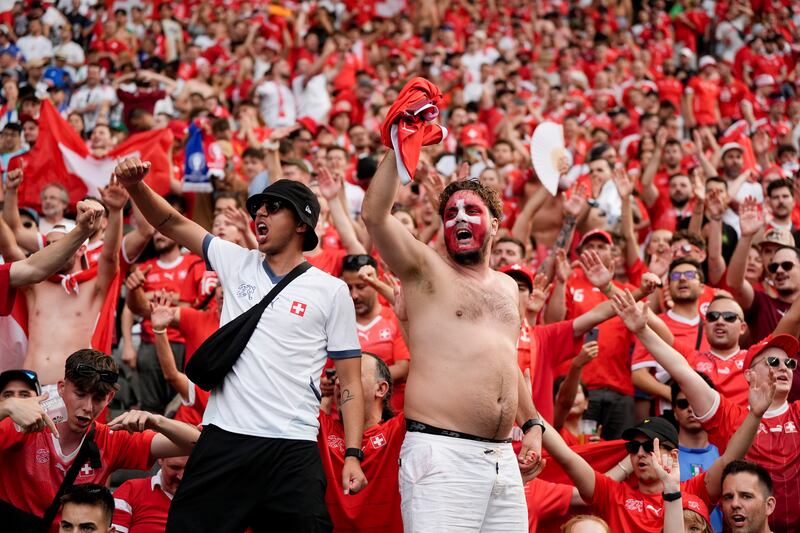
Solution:
<path fill-rule="evenodd" d="M 94 441 L 100 449 L 102 467 L 89 462 L 78 472 L 75 484 L 105 485 L 112 472 L 119 469 L 149 470 L 153 466 L 150 445 L 153 431 L 128 433 L 111 431 L 95 422 Z M 10 418 L 0 422 L 0 500 L 27 513 L 42 516 L 53 501 L 58 487 L 72 466 L 77 450 L 70 456 L 61 452 L 58 440 L 49 430 L 22 433 Z"/>

